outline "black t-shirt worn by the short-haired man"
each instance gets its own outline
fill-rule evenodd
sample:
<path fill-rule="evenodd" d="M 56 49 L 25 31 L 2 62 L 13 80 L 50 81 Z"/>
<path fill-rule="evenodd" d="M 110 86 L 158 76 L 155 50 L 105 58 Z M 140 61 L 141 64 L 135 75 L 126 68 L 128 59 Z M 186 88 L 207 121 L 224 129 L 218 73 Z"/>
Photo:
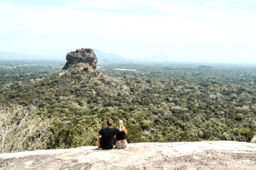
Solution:
<path fill-rule="evenodd" d="M 100 147 L 102 149 L 112 149 L 114 146 L 115 134 L 120 132 L 117 128 L 102 128 L 99 132 L 101 135 Z"/>

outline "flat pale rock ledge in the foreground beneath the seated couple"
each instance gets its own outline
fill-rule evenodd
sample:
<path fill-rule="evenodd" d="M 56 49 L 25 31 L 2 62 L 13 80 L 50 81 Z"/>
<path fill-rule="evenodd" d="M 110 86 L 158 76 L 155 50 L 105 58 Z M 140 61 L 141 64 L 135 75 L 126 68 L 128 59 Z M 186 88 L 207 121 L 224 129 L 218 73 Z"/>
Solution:
<path fill-rule="evenodd" d="M 235 141 L 129 143 L 0 154 L 0 170 L 255 170 L 256 144 Z"/>

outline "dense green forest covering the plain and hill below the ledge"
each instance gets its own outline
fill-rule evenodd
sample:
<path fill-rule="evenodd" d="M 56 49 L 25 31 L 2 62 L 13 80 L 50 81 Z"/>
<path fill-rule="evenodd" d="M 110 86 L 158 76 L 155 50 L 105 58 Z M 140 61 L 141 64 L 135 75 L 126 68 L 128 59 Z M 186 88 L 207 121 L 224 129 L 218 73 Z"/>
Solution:
<path fill-rule="evenodd" d="M 62 71 L 64 62 L 26 64 L 0 67 L 2 115 L 16 113 L 0 117 L 1 152 L 96 146 L 109 118 L 114 127 L 124 121 L 128 142 L 249 142 L 256 132 L 255 65 L 98 63 L 96 71 L 81 64 Z M 37 135 L 18 140 L 19 127 L 29 125 L 21 122 L 38 120 L 41 128 L 30 129 Z M 3 130 L 14 124 L 14 134 Z"/>

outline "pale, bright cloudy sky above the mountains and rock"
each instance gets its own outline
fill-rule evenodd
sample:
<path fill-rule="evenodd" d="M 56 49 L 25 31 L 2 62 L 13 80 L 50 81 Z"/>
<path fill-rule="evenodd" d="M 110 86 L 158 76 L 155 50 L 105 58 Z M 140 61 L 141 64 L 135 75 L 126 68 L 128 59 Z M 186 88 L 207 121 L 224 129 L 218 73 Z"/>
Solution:
<path fill-rule="evenodd" d="M 0 51 L 256 61 L 256 0 L 0 0 Z"/>

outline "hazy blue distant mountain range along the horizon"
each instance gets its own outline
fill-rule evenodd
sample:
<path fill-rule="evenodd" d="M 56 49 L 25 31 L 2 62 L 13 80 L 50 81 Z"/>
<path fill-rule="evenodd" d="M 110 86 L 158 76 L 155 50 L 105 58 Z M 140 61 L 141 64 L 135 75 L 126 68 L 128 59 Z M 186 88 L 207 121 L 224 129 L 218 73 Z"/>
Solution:
<path fill-rule="evenodd" d="M 169 56 L 160 54 L 160 55 L 152 55 L 149 56 L 148 59 L 127 59 L 119 54 L 115 54 L 112 52 L 105 53 L 100 50 L 94 49 L 94 52 L 96 54 L 96 57 L 98 58 L 98 62 L 111 62 L 111 63 L 120 63 L 120 62 L 127 62 L 127 63 L 177 63 L 177 62 L 208 62 L 208 63 L 254 63 L 256 61 L 247 61 L 243 58 L 235 58 L 232 60 L 205 60 L 205 61 L 198 61 L 198 60 L 186 60 L 186 59 L 180 59 L 180 58 L 171 58 Z M 31 55 L 31 54 L 24 54 L 24 53 L 16 53 L 16 52 L 1 52 L 0 51 L 0 59 L 11 59 L 11 60 L 17 60 L 17 59 L 23 59 L 23 60 L 31 60 L 31 59 L 47 59 L 47 60 L 64 60 L 66 61 L 66 56 L 56 56 L 56 55 Z"/>

